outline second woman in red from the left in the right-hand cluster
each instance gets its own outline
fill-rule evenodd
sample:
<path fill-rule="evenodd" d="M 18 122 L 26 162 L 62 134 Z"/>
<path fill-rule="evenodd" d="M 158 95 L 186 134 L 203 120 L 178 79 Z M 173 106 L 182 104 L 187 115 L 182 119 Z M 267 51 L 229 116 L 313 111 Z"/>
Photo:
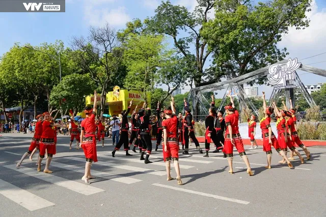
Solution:
<path fill-rule="evenodd" d="M 276 116 L 278 117 L 276 122 L 277 127 L 277 133 L 278 133 L 278 142 L 280 144 L 281 149 L 284 151 L 285 156 L 287 154 L 287 147 L 290 148 L 291 151 L 294 151 L 298 154 L 298 157 L 300 158 L 300 161 L 302 164 L 304 164 L 304 159 L 301 156 L 301 154 L 295 149 L 292 140 L 290 139 L 290 135 L 287 133 L 287 127 L 286 127 L 286 119 L 287 111 L 281 110 L 277 108 L 275 102 L 273 101 L 274 111 Z M 282 161 L 279 161 L 280 164 L 285 164 L 286 160 L 283 158 Z"/>

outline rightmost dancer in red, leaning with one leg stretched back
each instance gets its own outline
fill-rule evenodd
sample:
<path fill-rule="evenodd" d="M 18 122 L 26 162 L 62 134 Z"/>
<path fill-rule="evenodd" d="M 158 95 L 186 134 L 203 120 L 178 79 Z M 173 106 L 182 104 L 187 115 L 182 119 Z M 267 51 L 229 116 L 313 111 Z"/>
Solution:
<path fill-rule="evenodd" d="M 295 143 L 297 146 L 301 147 L 305 151 L 306 156 L 307 156 L 307 160 L 309 161 L 310 160 L 310 151 L 302 143 L 302 141 L 299 138 L 299 135 L 297 134 L 297 131 L 296 131 L 296 117 L 295 117 L 296 109 L 293 109 L 292 101 L 290 101 L 290 104 L 291 104 L 291 107 L 290 107 L 289 112 L 290 112 L 291 115 L 290 115 L 289 119 L 287 120 L 287 126 L 289 128 L 288 133 L 291 135 L 291 139 L 292 139 L 293 143 Z M 284 109 L 288 110 L 288 108 L 287 108 L 287 106 L 285 105 L 284 102 L 283 102 L 283 105 L 284 105 Z M 292 151 L 290 153 L 290 160 L 294 160 Z"/>

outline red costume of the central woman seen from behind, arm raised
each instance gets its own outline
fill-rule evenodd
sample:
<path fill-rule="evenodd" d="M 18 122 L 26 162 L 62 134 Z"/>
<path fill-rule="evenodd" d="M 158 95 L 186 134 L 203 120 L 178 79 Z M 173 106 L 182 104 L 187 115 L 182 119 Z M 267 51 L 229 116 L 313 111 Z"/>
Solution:
<path fill-rule="evenodd" d="M 164 119 L 162 121 L 162 128 L 167 129 L 167 150 L 165 152 L 165 146 L 163 144 L 163 158 L 164 161 L 178 161 L 179 160 L 179 144 L 177 141 L 177 125 L 178 125 L 178 118 L 175 114 L 172 115 L 171 118 Z M 172 158 L 171 158 L 172 157 Z"/>

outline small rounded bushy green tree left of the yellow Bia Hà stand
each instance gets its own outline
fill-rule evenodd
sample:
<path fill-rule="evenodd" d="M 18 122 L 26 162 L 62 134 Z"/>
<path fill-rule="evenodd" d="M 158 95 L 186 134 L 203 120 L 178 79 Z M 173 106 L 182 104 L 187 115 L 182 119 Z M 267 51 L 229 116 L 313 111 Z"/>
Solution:
<path fill-rule="evenodd" d="M 95 82 L 89 75 L 67 75 L 53 87 L 50 104 L 66 111 L 72 109 L 76 114 L 83 110 L 85 96 L 92 94 L 94 89 L 96 89 Z"/>

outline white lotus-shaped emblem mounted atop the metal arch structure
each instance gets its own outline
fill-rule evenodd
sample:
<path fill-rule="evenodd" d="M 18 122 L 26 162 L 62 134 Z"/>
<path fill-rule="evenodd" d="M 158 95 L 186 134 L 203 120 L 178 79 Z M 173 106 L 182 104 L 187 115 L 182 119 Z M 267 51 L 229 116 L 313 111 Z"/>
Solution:
<path fill-rule="evenodd" d="M 295 70 L 301 66 L 297 58 L 287 61 L 286 64 L 274 64 L 268 69 L 270 77 L 268 78 L 269 84 L 281 88 L 292 88 L 293 86 L 286 86 L 286 81 L 295 80 Z"/>

